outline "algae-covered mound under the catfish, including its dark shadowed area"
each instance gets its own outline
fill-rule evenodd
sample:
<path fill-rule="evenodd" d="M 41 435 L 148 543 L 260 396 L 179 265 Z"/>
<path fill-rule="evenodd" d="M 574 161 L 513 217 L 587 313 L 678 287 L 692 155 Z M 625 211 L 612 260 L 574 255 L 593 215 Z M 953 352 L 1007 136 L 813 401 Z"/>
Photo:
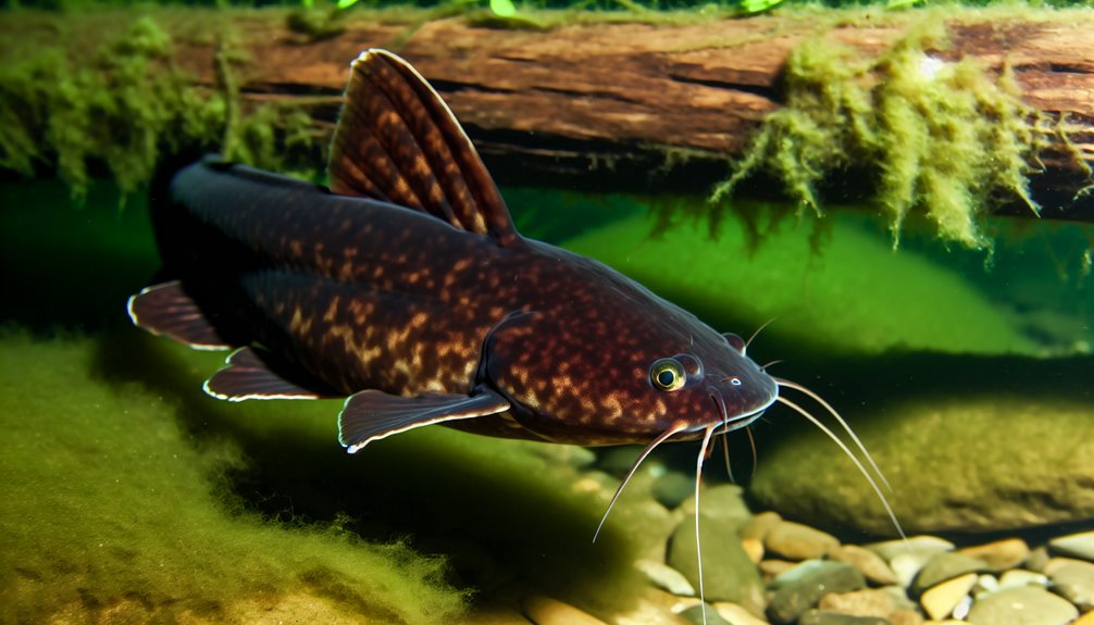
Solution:
<path fill-rule="evenodd" d="M 4 622 L 439 623 L 524 592 L 613 613 L 671 528 L 635 495 L 591 544 L 610 490 L 562 446 L 427 428 L 347 455 L 340 402 L 213 401 L 222 355 L 135 329 L 0 352 Z"/>

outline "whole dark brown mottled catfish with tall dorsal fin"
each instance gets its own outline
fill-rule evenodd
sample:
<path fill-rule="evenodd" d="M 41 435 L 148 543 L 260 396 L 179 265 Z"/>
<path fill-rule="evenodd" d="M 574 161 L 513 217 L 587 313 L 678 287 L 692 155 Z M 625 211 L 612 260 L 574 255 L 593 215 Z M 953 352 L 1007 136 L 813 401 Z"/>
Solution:
<path fill-rule="evenodd" d="M 447 106 L 389 52 L 352 66 L 329 176 L 327 190 L 207 158 L 155 192 L 174 280 L 133 296 L 129 315 L 195 347 L 235 347 L 210 394 L 347 397 L 351 452 L 442 423 L 647 444 L 633 472 L 660 443 L 701 439 L 697 476 L 715 432 L 777 399 L 807 415 L 778 397 L 804 389 L 765 373 L 740 337 L 521 236 Z"/>

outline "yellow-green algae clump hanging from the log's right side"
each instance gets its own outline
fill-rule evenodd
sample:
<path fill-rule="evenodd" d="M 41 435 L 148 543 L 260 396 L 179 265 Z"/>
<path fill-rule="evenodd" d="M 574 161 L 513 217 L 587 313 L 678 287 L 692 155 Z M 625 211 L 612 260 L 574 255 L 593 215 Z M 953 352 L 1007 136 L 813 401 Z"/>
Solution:
<path fill-rule="evenodd" d="M 1036 155 L 1051 131 L 1022 102 L 1009 66 L 994 78 L 970 59 L 927 51 L 944 43 L 935 21 L 878 58 L 821 37 L 801 43 L 787 60 L 785 106 L 764 120 L 710 201 L 765 170 L 819 214 L 818 184 L 871 167 L 873 200 L 889 216 L 894 246 L 907 215 L 921 210 L 940 238 L 989 247 L 977 221 L 990 199 L 1016 197 L 1038 212 L 1026 176 L 1043 168 Z"/>

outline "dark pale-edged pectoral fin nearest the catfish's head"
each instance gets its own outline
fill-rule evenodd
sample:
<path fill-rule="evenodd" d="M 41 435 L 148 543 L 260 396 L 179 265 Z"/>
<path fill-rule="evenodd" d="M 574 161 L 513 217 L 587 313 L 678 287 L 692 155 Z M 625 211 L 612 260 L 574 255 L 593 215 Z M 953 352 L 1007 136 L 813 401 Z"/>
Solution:
<path fill-rule="evenodd" d="M 509 410 L 509 401 L 490 390 L 474 396 L 422 393 L 398 397 L 379 390 L 364 390 L 346 400 L 338 415 L 338 440 L 354 453 L 381 438 L 457 418 L 474 418 Z"/>

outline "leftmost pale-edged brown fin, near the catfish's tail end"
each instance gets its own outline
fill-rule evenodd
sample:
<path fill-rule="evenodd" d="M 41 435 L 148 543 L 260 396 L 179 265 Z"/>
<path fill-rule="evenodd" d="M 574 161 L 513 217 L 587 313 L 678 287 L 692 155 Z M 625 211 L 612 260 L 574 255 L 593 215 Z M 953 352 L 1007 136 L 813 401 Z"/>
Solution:
<path fill-rule="evenodd" d="M 138 328 L 196 350 L 231 349 L 177 280 L 149 286 L 130 297 L 129 318 Z"/>

